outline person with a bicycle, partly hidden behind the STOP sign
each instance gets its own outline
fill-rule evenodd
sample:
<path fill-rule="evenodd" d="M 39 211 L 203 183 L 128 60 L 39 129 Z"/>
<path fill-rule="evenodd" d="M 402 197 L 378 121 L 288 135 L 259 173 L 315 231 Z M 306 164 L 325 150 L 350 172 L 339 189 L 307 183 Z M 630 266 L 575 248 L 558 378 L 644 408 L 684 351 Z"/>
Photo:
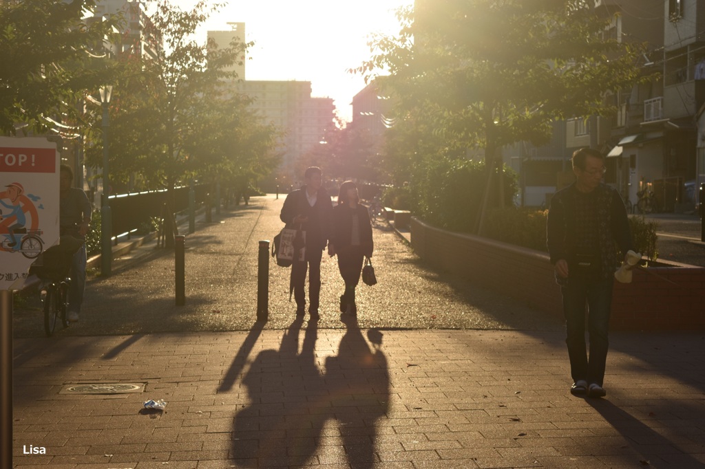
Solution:
<path fill-rule="evenodd" d="M 69 165 L 61 165 L 59 185 L 59 227 L 61 235 L 71 235 L 85 241 L 90 227 L 93 207 L 82 189 L 71 187 L 73 170 Z M 73 255 L 71 265 L 71 289 L 68 292 L 67 318 L 72 323 L 78 321 L 83 303 L 86 282 L 86 248 L 83 244 Z"/>

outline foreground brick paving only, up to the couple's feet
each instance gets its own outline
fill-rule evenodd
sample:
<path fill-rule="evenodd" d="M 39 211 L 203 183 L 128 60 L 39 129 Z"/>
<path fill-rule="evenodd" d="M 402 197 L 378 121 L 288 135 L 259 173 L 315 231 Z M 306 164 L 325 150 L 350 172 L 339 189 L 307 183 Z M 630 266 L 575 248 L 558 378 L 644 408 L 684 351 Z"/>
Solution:
<path fill-rule="evenodd" d="M 705 465 L 702 334 L 613 334 L 608 396 L 582 399 L 560 332 L 378 332 L 16 339 L 15 467 Z M 145 387 L 60 394 L 81 383 Z"/>

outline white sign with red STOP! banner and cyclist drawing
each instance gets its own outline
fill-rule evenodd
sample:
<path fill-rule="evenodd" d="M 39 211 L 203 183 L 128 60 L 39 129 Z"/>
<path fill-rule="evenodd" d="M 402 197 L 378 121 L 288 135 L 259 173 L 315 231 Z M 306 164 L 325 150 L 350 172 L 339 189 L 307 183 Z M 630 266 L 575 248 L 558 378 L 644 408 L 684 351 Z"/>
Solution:
<path fill-rule="evenodd" d="M 56 143 L 0 137 L 0 290 L 18 289 L 35 258 L 58 242 Z"/>

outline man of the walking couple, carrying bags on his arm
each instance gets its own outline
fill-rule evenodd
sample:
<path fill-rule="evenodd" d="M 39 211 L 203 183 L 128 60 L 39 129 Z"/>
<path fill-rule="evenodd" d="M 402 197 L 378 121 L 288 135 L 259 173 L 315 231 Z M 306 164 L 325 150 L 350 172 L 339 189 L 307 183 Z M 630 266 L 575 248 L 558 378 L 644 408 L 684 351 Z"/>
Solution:
<path fill-rule="evenodd" d="M 300 228 L 306 233 L 305 259 L 291 265 L 291 284 L 296 300 L 296 315 L 304 315 L 306 296 L 304 286 L 309 270 L 309 315 L 319 320 L 319 297 L 321 294 L 321 258 L 329 239 L 329 225 L 333 203 L 323 186 L 321 168 L 312 166 L 304 173 L 305 186 L 286 196 L 281 208 L 281 221 L 287 226 Z"/>

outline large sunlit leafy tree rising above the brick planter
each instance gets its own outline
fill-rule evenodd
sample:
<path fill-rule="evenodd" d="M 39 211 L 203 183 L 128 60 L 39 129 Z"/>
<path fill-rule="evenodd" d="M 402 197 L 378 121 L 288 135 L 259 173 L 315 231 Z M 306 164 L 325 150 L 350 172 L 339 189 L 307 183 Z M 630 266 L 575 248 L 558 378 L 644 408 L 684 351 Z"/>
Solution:
<path fill-rule="evenodd" d="M 357 71 L 388 74 L 378 80 L 398 103 L 401 135 L 416 130 L 417 146 L 444 156 L 482 149 L 498 173 L 502 146 L 545 143 L 557 119 L 606 115 L 605 93 L 639 80 L 641 49 L 606 39 L 611 18 L 589 3 L 417 1 L 399 12 L 398 37 L 377 37 L 378 53 Z"/>

